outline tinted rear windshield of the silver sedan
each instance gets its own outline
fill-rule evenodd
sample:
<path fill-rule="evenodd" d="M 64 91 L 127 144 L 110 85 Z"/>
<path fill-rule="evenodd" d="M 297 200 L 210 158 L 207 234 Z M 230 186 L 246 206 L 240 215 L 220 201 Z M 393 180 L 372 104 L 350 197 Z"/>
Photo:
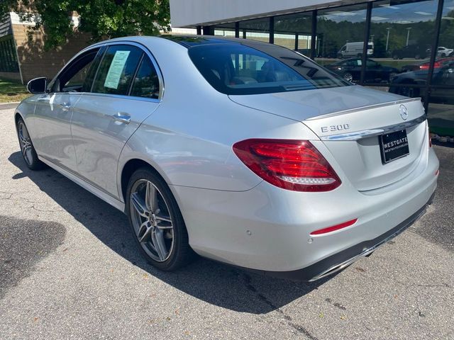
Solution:
<path fill-rule="evenodd" d="M 277 45 L 217 43 L 189 48 L 199 72 L 223 94 L 269 94 L 350 86 L 297 52 Z"/>

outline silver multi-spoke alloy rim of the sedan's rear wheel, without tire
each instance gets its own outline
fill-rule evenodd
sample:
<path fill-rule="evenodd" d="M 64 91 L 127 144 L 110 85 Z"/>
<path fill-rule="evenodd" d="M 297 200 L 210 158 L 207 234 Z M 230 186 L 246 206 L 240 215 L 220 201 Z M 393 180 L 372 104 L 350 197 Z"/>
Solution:
<path fill-rule="evenodd" d="M 148 256 L 157 262 L 169 259 L 174 246 L 170 210 L 157 187 L 146 179 L 133 184 L 130 196 L 135 236 Z"/>

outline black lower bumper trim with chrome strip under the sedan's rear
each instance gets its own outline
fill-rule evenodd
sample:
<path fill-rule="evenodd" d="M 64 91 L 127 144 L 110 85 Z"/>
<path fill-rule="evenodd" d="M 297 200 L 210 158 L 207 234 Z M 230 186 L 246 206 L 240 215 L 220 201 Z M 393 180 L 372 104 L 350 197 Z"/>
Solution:
<path fill-rule="evenodd" d="M 350 266 L 350 264 L 362 259 L 363 257 L 370 256 L 375 250 L 377 250 L 383 244 L 386 244 L 390 240 L 397 237 L 397 235 L 404 232 L 408 227 L 414 224 L 420 217 L 426 213 L 426 209 L 433 202 L 435 193 L 429 198 L 426 205 L 416 211 L 409 218 L 404 220 L 396 227 L 389 229 L 384 234 L 381 234 L 375 239 L 355 244 L 350 248 L 328 256 L 319 262 L 312 264 L 306 268 L 299 269 L 297 271 L 255 271 L 266 275 L 274 276 L 277 278 L 287 278 L 289 280 L 304 280 L 304 281 L 315 281 L 326 276 L 330 276 L 333 273 L 343 270 Z"/>

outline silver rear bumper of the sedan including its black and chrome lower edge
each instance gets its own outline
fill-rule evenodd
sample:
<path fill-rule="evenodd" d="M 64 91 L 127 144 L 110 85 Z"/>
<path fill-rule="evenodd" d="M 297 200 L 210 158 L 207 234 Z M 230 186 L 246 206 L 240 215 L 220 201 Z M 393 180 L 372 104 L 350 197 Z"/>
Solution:
<path fill-rule="evenodd" d="M 437 169 L 431 149 L 411 176 L 367 193 L 348 182 L 309 194 L 266 182 L 242 192 L 170 188 L 189 244 L 199 255 L 273 276 L 314 280 L 367 256 L 411 225 L 431 202 Z M 311 236 L 355 218 L 355 225 Z"/>

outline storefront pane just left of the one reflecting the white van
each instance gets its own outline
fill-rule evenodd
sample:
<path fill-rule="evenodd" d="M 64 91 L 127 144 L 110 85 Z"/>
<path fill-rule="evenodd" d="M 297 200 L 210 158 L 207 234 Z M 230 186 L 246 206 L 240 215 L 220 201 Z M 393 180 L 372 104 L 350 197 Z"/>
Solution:
<path fill-rule="evenodd" d="M 311 55 L 312 14 L 296 13 L 275 17 L 275 44 Z"/>

